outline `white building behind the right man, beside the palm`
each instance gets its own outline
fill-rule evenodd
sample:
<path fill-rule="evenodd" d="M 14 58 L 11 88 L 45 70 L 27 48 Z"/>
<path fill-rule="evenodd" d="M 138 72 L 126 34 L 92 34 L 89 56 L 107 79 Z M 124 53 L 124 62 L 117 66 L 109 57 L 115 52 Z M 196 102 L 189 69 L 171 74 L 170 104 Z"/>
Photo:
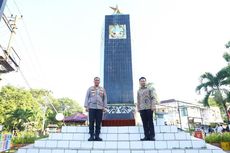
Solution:
<path fill-rule="evenodd" d="M 199 103 L 169 99 L 161 101 L 157 110 L 166 113 L 164 116 L 166 124 L 177 125 L 182 129 L 193 128 L 195 124 L 209 125 L 223 122 L 218 107 L 204 107 Z"/>

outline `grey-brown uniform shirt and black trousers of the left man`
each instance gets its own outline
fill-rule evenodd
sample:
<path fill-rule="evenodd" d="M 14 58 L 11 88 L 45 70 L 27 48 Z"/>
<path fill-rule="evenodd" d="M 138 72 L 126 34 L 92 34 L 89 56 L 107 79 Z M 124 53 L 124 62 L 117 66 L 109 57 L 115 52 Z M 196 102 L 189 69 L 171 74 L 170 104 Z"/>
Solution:
<path fill-rule="evenodd" d="M 95 139 L 99 138 L 101 130 L 101 121 L 103 109 L 107 108 L 107 96 L 105 89 L 98 86 L 92 86 L 88 89 L 85 98 L 85 108 L 89 109 L 89 133 Z M 94 122 L 96 121 L 96 130 L 94 132 Z"/>

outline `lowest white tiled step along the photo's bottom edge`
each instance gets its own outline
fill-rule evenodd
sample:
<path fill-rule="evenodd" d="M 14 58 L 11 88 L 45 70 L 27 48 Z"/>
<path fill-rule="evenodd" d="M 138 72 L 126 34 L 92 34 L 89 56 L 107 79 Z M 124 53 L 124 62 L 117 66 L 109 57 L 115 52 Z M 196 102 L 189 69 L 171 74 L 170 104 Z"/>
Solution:
<path fill-rule="evenodd" d="M 21 148 L 17 153 L 225 153 L 221 149 L 167 149 L 167 150 L 73 150 L 73 149 L 52 149 L 52 148 Z"/>

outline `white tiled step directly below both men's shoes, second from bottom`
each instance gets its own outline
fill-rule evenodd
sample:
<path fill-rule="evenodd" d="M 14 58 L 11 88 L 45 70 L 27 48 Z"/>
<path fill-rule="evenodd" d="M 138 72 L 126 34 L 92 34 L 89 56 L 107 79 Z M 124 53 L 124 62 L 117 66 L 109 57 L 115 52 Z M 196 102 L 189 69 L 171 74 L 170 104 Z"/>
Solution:
<path fill-rule="evenodd" d="M 77 141 L 77 140 L 38 140 L 35 148 L 65 148 L 65 149 L 202 149 L 206 148 L 203 140 L 181 141 Z"/>

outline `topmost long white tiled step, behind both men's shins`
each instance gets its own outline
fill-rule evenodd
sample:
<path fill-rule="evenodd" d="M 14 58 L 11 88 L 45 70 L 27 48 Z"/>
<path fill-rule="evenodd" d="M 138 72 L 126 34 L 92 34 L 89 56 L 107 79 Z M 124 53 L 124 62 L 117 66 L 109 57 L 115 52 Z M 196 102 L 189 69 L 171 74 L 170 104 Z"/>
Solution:
<path fill-rule="evenodd" d="M 154 126 L 155 133 L 177 133 L 176 126 Z M 63 126 L 63 133 L 88 133 L 88 126 Z M 101 133 L 144 133 L 142 126 L 102 127 Z"/>

